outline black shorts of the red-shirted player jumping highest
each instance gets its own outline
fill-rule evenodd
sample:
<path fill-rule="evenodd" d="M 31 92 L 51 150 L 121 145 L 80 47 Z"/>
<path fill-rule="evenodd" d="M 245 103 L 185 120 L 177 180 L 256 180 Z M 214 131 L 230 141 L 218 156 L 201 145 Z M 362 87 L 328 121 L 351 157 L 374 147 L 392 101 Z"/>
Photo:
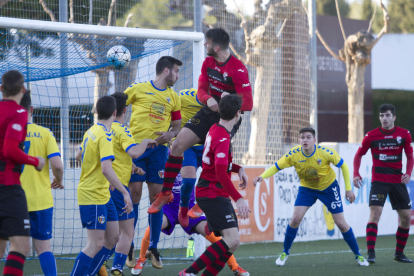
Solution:
<path fill-rule="evenodd" d="M 220 113 L 212 111 L 207 106 L 203 106 L 197 113 L 194 115 L 193 118 L 191 118 L 184 127 L 191 129 L 192 132 L 194 132 L 195 135 L 197 135 L 198 138 L 200 138 L 201 142 L 200 144 L 204 144 L 207 132 L 210 130 L 210 128 L 218 123 L 220 121 Z M 233 136 L 237 133 L 239 130 L 239 127 L 241 125 L 242 119 L 240 117 L 240 120 L 237 122 L 237 124 L 234 125 L 230 137 L 233 138 Z"/>

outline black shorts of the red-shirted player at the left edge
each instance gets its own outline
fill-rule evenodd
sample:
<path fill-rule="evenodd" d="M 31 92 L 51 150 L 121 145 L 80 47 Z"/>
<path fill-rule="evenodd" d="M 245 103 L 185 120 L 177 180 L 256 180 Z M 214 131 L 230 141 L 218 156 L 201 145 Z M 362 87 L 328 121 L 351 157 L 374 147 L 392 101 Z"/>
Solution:
<path fill-rule="evenodd" d="M 0 187 L 0 238 L 30 236 L 26 195 L 20 185 Z"/>

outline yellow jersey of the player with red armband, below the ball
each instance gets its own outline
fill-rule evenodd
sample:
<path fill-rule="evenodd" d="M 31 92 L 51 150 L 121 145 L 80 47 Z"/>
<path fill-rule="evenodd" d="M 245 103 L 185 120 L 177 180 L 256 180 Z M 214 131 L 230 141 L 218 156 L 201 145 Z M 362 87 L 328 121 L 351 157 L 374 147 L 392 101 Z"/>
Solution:
<path fill-rule="evenodd" d="M 152 81 L 135 83 L 124 93 L 128 95 L 127 105 L 132 104 L 130 127 L 137 143 L 155 140 L 159 136 L 155 132 L 167 132 L 181 110 L 177 93 L 171 87 L 158 89 Z"/>

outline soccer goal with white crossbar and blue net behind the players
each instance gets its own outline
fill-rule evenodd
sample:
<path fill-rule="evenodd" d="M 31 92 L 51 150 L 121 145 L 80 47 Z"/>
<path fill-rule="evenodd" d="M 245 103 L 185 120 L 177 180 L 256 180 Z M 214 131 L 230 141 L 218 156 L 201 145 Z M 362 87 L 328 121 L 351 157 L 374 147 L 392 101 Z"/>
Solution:
<path fill-rule="evenodd" d="M 204 59 L 203 39 L 201 33 L 0 18 L 0 75 L 11 69 L 23 73 L 31 90 L 33 122 L 54 133 L 64 161 L 65 189 L 53 191 L 51 245 L 57 257 L 73 257 L 87 242 L 77 204 L 81 169 L 75 151 L 94 123 L 96 100 L 123 92 L 131 83 L 154 79 L 155 64 L 165 55 L 183 62 L 175 91 L 195 87 Z M 106 61 L 107 51 L 115 45 L 123 45 L 131 53 L 131 62 L 123 70 L 112 70 Z M 144 185 L 136 248 L 148 226 L 148 206 Z M 179 226 L 171 236 L 162 234 L 161 255 L 185 258 L 188 238 Z"/>

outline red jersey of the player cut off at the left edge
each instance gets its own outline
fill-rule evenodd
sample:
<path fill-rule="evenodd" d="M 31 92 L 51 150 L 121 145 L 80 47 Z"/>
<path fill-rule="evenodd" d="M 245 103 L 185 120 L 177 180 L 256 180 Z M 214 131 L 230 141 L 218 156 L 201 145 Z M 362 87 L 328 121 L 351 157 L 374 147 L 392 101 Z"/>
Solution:
<path fill-rule="evenodd" d="M 27 111 L 15 101 L 0 101 L 0 185 L 20 185 L 22 164 L 16 164 L 3 153 L 5 139 L 19 142 L 23 150 L 27 132 Z"/>

